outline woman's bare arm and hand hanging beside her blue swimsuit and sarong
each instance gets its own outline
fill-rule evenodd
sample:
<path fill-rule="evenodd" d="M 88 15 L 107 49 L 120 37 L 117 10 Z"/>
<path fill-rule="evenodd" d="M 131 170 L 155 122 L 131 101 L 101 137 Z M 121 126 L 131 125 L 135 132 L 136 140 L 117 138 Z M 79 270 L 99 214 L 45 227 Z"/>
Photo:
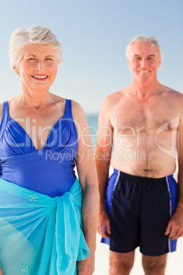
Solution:
<path fill-rule="evenodd" d="M 83 108 L 72 101 L 72 115 L 78 131 L 78 150 L 76 168 L 83 192 L 82 219 L 83 233 L 92 252 L 91 256 L 77 263 L 77 274 L 89 275 L 94 272 L 96 250 L 96 231 L 98 222 L 98 180 L 94 162 L 94 150 L 90 137 L 89 126 Z"/>

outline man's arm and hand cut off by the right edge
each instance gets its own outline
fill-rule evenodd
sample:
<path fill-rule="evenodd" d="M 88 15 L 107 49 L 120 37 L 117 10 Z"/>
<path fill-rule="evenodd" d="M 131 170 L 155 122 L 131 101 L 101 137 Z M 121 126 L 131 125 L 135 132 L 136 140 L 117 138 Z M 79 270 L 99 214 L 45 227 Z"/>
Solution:
<path fill-rule="evenodd" d="M 182 96 L 183 98 L 183 96 Z M 183 99 L 180 105 L 181 116 L 178 129 L 178 207 L 169 220 L 165 235 L 169 235 L 171 239 L 178 239 L 183 235 Z"/>

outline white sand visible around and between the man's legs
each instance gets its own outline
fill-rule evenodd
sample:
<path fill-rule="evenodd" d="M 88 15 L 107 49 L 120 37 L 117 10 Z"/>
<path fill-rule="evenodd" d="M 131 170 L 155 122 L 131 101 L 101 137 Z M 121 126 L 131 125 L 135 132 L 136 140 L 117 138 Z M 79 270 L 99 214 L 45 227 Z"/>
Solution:
<path fill-rule="evenodd" d="M 100 243 L 100 235 L 97 235 L 96 271 L 94 275 L 109 274 L 109 246 Z M 130 275 L 143 275 L 141 266 L 141 253 L 139 248 L 135 250 L 135 263 Z M 178 239 L 177 251 L 168 254 L 165 275 L 183 275 L 183 237 Z"/>

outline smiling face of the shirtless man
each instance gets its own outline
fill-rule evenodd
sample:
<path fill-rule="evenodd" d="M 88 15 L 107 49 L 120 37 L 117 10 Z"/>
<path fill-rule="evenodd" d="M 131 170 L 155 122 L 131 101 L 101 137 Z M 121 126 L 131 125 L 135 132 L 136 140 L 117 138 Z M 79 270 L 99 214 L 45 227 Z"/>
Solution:
<path fill-rule="evenodd" d="M 158 49 L 150 42 L 135 42 L 130 49 L 128 66 L 132 70 L 134 81 L 156 81 L 156 72 L 160 67 Z"/>

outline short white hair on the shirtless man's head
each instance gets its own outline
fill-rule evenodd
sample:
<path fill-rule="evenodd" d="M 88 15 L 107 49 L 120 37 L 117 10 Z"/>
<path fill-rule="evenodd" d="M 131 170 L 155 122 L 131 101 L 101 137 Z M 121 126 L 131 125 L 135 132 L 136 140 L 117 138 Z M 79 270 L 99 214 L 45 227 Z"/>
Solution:
<path fill-rule="evenodd" d="M 135 38 L 132 38 L 130 43 L 126 46 L 126 58 L 129 60 L 130 58 L 130 49 L 132 47 L 132 44 L 135 42 L 149 42 L 150 44 L 154 45 L 156 49 L 158 50 L 160 60 L 163 58 L 163 51 L 160 49 L 160 45 L 156 38 L 154 36 L 145 36 L 141 34 L 140 36 L 135 36 Z"/>

